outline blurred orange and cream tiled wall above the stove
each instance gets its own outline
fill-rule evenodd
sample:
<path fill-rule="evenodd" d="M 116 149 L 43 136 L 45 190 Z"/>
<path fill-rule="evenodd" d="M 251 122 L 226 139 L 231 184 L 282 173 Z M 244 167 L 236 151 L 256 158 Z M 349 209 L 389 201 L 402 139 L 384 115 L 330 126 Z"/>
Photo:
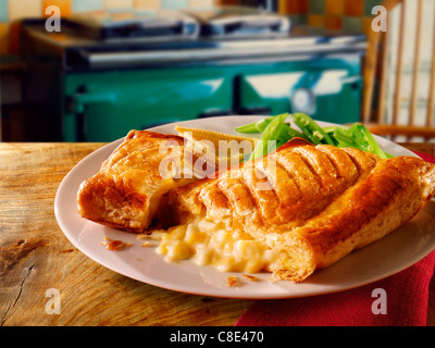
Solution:
<path fill-rule="evenodd" d="M 16 21 L 45 17 L 46 8 L 57 5 L 62 16 L 72 13 L 125 9 L 156 12 L 161 9 L 201 9 L 213 5 L 250 5 L 277 10 L 288 15 L 294 24 L 368 33 L 373 18 L 372 8 L 382 0 L 0 0 L 0 54 L 16 52 Z"/>

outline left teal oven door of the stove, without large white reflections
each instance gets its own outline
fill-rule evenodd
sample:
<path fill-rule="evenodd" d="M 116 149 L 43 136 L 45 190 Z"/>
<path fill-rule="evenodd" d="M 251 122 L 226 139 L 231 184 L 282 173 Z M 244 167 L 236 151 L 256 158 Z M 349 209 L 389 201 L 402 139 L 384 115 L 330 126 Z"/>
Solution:
<path fill-rule="evenodd" d="M 66 141 L 111 141 L 129 129 L 226 112 L 231 79 L 202 69 L 66 75 Z"/>

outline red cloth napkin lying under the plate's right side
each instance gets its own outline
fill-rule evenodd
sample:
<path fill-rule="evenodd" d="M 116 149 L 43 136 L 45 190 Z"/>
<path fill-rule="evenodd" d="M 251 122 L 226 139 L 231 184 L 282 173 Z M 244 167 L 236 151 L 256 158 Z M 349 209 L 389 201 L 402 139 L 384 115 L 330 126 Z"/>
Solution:
<path fill-rule="evenodd" d="M 415 153 L 435 163 L 434 157 Z M 434 266 L 432 251 L 405 271 L 351 290 L 256 301 L 236 326 L 425 326 Z"/>

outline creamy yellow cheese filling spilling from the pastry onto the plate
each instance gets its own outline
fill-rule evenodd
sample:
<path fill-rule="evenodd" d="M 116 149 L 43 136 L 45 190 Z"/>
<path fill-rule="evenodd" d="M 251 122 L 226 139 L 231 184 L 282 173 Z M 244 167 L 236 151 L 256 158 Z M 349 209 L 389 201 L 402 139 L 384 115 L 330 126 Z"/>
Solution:
<path fill-rule="evenodd" d="M 223 272 L 257 273 L 288 262 L 285 251 L 269 249 L 244 232 L 232 232 L 225 223 L 197 219 L 190 224 L 156 231 L 157 252 L 166 262 L 190 259 Z"/>

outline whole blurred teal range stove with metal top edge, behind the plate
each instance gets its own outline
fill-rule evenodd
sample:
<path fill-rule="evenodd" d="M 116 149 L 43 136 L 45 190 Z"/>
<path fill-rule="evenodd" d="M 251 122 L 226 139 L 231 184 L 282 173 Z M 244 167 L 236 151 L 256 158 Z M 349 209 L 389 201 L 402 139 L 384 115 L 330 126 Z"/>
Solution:
<path fill-rule="evenodd" d="M 83 21 L 60 33 L 24 22 L 26 102 L 48 129 L 35 140 L 112 141 L 133 128 L 234 114 L 360 120 L 363 36 L 289 30 L 281 16 L 261 25 L 209 18 L 213 35 L 194 15 L 165 20 L 171 25 L 154 24 L 153 37 L 126 38 L 113 28 L 117 36 L 108 38 L 104 26 L 85 30 Z"/>

